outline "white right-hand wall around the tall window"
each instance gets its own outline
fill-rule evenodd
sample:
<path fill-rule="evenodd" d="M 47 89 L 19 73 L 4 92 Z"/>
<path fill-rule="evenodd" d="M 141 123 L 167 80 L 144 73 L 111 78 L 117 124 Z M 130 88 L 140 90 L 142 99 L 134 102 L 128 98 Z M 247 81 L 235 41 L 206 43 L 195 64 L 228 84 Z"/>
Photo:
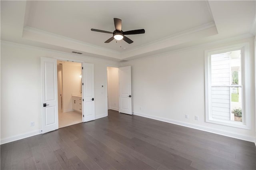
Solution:
<path fill-rule="evenodd" d="M 251 129 L 205 122 L 204 50 L 250 42 Z M 214 45 L 215 44 L 215 45 Z M 204 46 L 204 47 L 203 47 Z M 132 66 L 134 114 L 198 128 L 244 140 L 255 140 L 254 38 L 229 43 L 212 43 L 166 53 L 157 57 L 128 61 Z M 185 114 L 189 119 L 185 119 Z M 194 119 L 195 115 L 199 120 Z"/>

